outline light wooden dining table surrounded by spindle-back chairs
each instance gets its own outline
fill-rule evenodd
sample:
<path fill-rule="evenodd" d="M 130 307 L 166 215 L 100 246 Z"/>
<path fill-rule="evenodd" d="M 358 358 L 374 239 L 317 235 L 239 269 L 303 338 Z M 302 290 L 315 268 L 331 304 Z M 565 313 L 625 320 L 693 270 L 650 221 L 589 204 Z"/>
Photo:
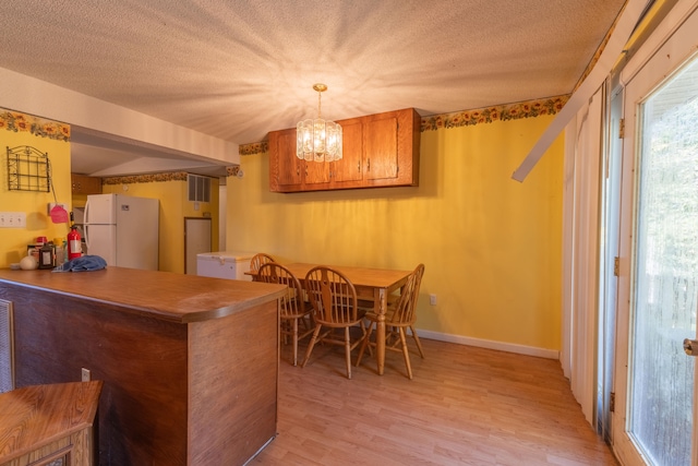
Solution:
<path fill-rule="evenodd" d="M 387 310 L 388 296 L 401 288 L 412 272 L 345 265 L 306 264 L 301 262 L 281 265 L 291 271 L 301 283 L 305 280 L 305 275 L 311 268 L 317 265 L 332 267 L 349 278 L 357 289 L 357 297 L 359 299 L 373 301 L 373 310 L 378 316 L 375 335 L 376 361 L 378 374 L 382 375 L 385 368 L 385 313 Z M 246 274 L 255 275 L 254 272 L 248 272 Z"/>

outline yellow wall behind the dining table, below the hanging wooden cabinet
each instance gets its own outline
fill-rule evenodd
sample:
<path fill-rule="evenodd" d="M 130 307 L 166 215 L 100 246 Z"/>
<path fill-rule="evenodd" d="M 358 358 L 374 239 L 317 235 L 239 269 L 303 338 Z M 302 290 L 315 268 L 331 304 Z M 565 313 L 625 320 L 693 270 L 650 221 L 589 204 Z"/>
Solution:
<path fill-rule="evenodd" d="M 563 139 L 524 183 L 510 178 L 552 118 L 422 132 L 418 188 L 272 193 L 267 154 L 243 156 L 244 177 L 227 182 L 227 249 L 280 262 L 423 262 L 419 328 L 557 350 Z"/>

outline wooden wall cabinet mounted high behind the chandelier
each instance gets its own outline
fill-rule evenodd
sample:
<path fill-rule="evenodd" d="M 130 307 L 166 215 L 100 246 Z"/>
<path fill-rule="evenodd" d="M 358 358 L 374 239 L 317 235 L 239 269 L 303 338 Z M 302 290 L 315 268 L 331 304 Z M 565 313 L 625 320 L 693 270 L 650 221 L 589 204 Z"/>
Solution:
<path fill-rule="evenodd" d="M 269 190 L 322 191 L 419 186 L 421 118 L 413 108 L 337 121 L 340 160 L 296 156 L 296 129 L 269 133 Z"/>

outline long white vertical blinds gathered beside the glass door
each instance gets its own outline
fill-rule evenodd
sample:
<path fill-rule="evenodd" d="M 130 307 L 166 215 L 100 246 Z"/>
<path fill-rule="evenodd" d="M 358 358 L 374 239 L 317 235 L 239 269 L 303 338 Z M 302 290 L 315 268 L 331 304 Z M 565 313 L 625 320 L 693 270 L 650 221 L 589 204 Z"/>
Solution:
<path fill-rule="evenodd" d="M 561 362 L 590 423 L 595 404 L 603 101 L 599 89 L 565 129 Z"/>

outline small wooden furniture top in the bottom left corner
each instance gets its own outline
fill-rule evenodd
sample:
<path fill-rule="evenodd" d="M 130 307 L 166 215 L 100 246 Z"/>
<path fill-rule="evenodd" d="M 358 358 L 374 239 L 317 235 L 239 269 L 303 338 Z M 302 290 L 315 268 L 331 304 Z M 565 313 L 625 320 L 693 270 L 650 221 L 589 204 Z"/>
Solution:
<path fill-rule="evenodd" d="M 93 423 L 101 385 L 34 385 L 0 394 L 0 465 L 95 464 Z"/>

